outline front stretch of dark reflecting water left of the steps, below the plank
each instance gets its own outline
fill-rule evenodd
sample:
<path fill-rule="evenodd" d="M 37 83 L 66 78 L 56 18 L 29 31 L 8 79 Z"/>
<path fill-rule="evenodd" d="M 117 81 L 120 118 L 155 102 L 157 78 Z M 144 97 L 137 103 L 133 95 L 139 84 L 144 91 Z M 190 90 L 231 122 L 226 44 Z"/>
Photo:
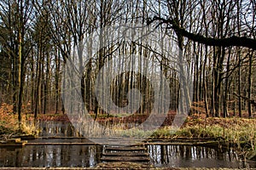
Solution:
<path fill-rule="evenodd" d="M 0 149 L 0 167 L 94 167 L 102 146 L 43 145 Z"/>

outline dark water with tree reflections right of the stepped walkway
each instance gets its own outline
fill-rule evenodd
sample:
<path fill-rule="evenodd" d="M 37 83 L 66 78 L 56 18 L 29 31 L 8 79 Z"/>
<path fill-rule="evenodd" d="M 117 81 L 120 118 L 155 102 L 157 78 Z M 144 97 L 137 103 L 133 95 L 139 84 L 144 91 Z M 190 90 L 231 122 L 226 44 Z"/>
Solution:
<path fill-rule="evenodd" d="M 148 145 L 155 167 L 255 167 L 256 162 L 239 161 L 234 150 L 190 145 Z"/>

